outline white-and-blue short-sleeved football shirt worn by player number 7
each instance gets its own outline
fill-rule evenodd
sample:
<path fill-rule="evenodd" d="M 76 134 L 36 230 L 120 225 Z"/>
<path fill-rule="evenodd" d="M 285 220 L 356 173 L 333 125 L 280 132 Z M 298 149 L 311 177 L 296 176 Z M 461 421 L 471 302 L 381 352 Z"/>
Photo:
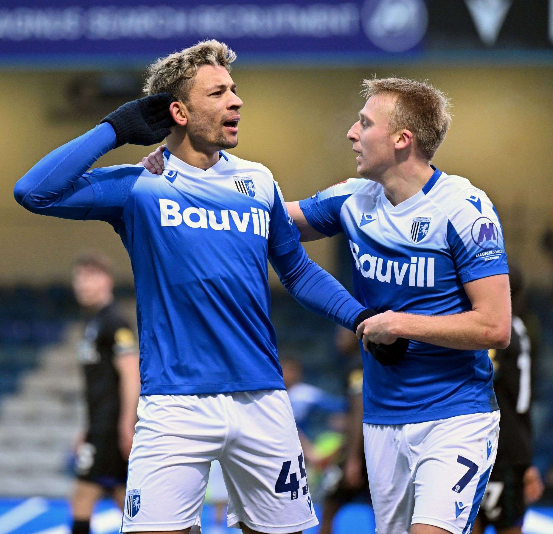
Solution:
<path fill-rule="evenodd" d="M 354 295 L 378 312 L 449 315 L 471 310 L 463 284 L 508 273 L 503 233 L 486 194 L 435 169 L 397 206 L 381 185 L 352 178 L 300 201 L 307 222 L 346 234 Z M 400 425 L 498 409 L 487 350 L 410 341 L 397 365 L 361 352 L 366 423 Z"/>

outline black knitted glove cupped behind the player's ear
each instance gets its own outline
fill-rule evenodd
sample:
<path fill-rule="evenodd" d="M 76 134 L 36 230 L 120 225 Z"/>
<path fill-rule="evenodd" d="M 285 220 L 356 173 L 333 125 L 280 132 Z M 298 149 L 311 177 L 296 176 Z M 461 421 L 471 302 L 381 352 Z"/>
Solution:
<path fill-rule="evenodd" d="M 100 124 L 108 122 L 117 135 L 118 146 L 153 145 L 161 143 L 170 133 L 175 121 L 169 113 L 169 104 L 175 99 L 169 93 L 158 93 L 118 107 L 104 117 Z"/>

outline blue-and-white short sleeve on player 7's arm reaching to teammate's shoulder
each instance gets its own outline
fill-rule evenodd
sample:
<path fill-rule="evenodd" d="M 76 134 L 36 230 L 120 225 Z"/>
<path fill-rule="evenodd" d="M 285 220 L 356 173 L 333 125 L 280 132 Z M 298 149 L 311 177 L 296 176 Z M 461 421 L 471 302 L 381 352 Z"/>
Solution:
<path fill-rule="evenodd" d="M 327 187 L 315 195 L 300 201 L 300 208 L 307 222 L 317 232 L 328 237 L 342 232 L 341 211 L 343 203 L 354 193 L 371 193 L 380 187 L 363 178 L 350 178 L 340 184 Z"/>

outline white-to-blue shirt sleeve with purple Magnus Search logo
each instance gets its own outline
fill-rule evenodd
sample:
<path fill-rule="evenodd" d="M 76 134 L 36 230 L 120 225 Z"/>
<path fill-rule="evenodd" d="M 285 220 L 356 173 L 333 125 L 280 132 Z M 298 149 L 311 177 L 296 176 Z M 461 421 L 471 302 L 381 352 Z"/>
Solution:
<path fill-rule="evenodd" d="M 509 272 L 503 229 L 484 191 L 466 178 L 442 174 L 427 198 L 447 217 L 446 241 L 463 284 Z"/>

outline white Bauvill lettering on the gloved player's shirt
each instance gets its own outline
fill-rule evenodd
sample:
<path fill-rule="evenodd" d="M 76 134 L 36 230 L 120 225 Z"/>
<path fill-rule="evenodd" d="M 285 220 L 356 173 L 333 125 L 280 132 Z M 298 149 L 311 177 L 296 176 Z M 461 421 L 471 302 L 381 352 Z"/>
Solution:
<path fill-rule="evenodd" d="M 186 224 L 190 228 L 212 228 L 213 230 L 237 230 L 246 232 L 253 226 L 255 235 L 269 239 L 269 212 L 251 208 L 251 212 L 238 213 L 234 210 L 213 211 L 200 207 L 188 207 L 180 212 L 178 202 L 168 198 L 159 199 L 161 226 L 179 226 Z M 232 225 L 231 225 L 232 221 Z M 251 224 L 250 224 L 251 223 Z"/>

